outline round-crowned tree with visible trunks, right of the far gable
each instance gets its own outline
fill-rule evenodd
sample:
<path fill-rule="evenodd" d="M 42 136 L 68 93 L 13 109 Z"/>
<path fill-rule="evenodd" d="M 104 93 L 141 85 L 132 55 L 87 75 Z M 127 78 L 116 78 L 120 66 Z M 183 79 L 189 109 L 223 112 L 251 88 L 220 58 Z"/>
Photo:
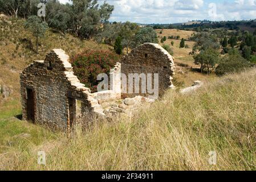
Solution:
<path fill-rule="evenodd" d="M 210 73 L 210 68 L 214 68 L 218 61 L 218 50 L 213 48 L 208 48 L 205 50 L 202 50 L 197 55 L 194 55 L 194 63 L 201 65 L 201 72 L 206 68 L 207 73 Z"/>

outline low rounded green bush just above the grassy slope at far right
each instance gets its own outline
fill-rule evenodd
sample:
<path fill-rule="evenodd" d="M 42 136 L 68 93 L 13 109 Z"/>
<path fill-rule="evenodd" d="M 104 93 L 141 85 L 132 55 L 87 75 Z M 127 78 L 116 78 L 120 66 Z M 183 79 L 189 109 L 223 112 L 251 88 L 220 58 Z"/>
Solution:
<path fill-rule="evenodd" d="M 249 67 L 249 62 L 237 53 L 222 57 L 215 72 L 216 75 L 222 76 L 226 75 L 227 73 L 240 72 Z"/>

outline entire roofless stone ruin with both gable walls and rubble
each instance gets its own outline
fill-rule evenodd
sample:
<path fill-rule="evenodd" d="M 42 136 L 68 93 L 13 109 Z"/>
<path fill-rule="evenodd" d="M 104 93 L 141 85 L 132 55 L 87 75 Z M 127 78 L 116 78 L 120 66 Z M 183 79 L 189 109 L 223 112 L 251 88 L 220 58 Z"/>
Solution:
<path fill-rule="evenodd" d="M 158 44 L 145 43 L 133 49 L 120 62 L 109 74 L 111 88 L 91 93 L 74 75 L 69 56 L 62 49 L 53 49 L 44 60 L 34 61 L 20 75 L 23 119 L 70 129 L 81 118 L 131 114 L 142 104 L 155 101 L 144 93 L 125 94 L 125 100 L 121 101 L 123 85 L 118 76 L 120 73 L 127 76 L 129 73 L 159 73 L 160 95 L 173 87 L 173 57 Z M 81 102 L 80 108 L 77 100 Z M 103 109 L 101 104 L 109 100 L 121 101 L 121 104 Z"/>

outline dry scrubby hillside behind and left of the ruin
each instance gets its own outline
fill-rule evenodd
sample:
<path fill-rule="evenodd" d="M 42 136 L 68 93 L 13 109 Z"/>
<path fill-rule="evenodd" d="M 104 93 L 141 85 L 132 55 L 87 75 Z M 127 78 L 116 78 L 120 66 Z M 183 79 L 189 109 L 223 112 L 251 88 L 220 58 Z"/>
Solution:
<path fill-rule="evenodd" d="M 33 60 L 43 60 L 46 53 L 54 48 L 61 48 L 70 56 L 85 48 L 111 48 L 91 40 L 82 41 L 69 34 L 63 36 L 48 30 L 46 36 L 39 40 L 39 54 L 36 54 L 35 38 L 23 28 L 24 22 L 23 19 L 0 18 L 0 85 L 13 90 L 11 97 L 5 100 L 0 96 L 0 120 L 21 114 L 19 73 Z"/>

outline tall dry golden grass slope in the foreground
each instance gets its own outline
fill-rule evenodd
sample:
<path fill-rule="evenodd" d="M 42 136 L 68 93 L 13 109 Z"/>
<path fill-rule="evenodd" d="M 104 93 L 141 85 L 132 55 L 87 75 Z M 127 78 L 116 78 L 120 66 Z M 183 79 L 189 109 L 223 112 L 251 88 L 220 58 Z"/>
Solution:
<path fill-rule="evenodd" d="M 169 90 L 133 118 L 94 121 L 71 138 L 24 122 L 16 135 L 5 134 L 6 120 L 0 169 L 255 170 L 255 78 L 251 69 L 206 82 L 187 96 Z M 18 137 L 24 133 L 29 137 Z M 45 167 L 36 163 L 39 150 L 46 152 Z M 209 151 L 217 152 L 215 166 Z"/>

